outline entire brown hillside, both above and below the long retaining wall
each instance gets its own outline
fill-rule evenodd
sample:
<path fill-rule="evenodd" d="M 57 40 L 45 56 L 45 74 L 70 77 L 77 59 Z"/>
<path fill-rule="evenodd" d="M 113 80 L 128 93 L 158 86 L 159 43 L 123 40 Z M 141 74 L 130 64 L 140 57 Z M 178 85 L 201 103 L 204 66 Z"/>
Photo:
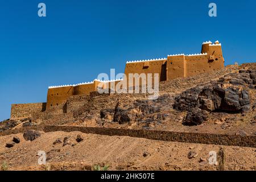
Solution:
<path fill-rule="evenodd" d="M 255 170 L 251 147 L 40 130 L 65 125 L 253 138 L 255 65 L 161 82 L 156 100 L 145 94 L 72 96 L 30 118 L 7 119 L 0 123 L 0 163 L 14 170 L 93 170 L 96 165 L 113 170 Z M 38 130 L 28 130 L 33 127 Z M 38 151 L 46 152 L 46 166 L 38 165 Z M 214 165 L 208 162 L 212 151 L 218 154 Z"/>

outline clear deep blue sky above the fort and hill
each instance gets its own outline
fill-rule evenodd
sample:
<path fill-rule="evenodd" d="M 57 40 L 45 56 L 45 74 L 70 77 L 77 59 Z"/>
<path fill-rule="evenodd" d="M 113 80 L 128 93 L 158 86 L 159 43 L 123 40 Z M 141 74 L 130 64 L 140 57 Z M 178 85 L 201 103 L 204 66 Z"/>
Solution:
<path fill-rule="evenodd" d="M 225 64 L 256 60 L 255 0 L 0 2 L 0 120 L 11 104 L 45 102 L 50 85 L 123 72 L 127 60 L 199 53 L 206 40 L 222 43 Z"/>

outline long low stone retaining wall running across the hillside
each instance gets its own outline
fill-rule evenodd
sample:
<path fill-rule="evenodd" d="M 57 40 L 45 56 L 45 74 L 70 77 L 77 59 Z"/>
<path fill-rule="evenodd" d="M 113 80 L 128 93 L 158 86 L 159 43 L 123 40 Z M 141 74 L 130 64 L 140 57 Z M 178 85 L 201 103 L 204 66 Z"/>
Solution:
<path fill-rule="evenodd" d="M 185 142 L 185 143 L 202 143 L 202 144 L 218 144 L 224 146 L 240 146 L 240 147 L 256 147 L 256 136 L 241 135 L 223 135 L 223 134 L 207 134 L 207 133 L 183 133 L 174 131 L 160 130 L 130 130 L 130 129 L 113 129 L 105 127 L 79 127 L 79 126 L 37 126 L 26 127 L 19 130 L 8 130 L 0 133 L 10 135 L 23 133 L 26 130 L 34 129 L 44 132 L 53 131 L 81 131 L 87 134 L 99 134 L 110 136 L 129 136 L 137 138 L 146 138 L 152 140 L 163 140 L 168 142 Z"/>

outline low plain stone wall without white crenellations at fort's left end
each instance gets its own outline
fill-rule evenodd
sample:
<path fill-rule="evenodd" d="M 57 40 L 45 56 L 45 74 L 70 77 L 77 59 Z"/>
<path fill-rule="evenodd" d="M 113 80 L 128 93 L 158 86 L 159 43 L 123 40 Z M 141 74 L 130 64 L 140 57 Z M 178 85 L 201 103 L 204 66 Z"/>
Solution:
<path fill-rule="evenodd" d="M 12 104 L 11 119 L 32 117 L 32 113 L 46 110 L 46 102 L 32 104 Z"/>

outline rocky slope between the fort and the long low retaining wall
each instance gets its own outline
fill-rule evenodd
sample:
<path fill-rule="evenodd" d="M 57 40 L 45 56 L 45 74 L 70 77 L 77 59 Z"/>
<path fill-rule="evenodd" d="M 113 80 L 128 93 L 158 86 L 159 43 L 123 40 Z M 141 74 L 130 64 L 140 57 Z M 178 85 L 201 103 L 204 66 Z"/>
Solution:
<path fill-rule="evenodd" d="M 255 63 L 161 82 L 160 96 L 72 96 L 32 118 L 5 121 L 0 130 L 40 125 L 255 133 Z M 245 131 L 246 130 L 246 131 Z"/>

